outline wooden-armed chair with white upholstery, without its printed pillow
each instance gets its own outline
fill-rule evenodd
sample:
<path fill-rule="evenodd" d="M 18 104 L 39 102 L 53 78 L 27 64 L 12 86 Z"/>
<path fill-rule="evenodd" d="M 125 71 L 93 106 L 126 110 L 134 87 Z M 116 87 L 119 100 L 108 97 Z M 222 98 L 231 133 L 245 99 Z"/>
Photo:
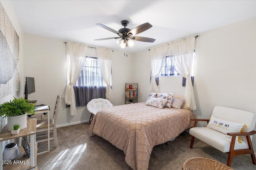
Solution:
<path fill-rule="evenodd" d="M 195 124 L 194 127 L 192 127 L 189 131 L 190 135 L 192 135 L 190 148 L 192 149 L 194 139 L 196 137 L 208 145 L 211 145 L 222 152 L 228 153 L 227 166 L 229 167 L 231 166 L 232 157 L 239 154 L 250 154 L 252 163 L 256 164 L 251 141 L 252 135 L 256 133 L 256 131 L 254 131 L 256 114 L 248 111 L 216 106 L 214 107 L 212 115 L 226 121 L 245 124 L 246 127 L 243 127 L 243 132 L 227 133 L 228 135 L 232 136 L 232 138 L 229 138 L 226 134 L 220 133 L 208 127 L 196 127 L 198 121 L 209 122 L 209 119 L 191 119 L 192 121 L 195 121 Z M 236 136 L 240 136 L 242 138 L 242 143 L 238 143 Z"/>

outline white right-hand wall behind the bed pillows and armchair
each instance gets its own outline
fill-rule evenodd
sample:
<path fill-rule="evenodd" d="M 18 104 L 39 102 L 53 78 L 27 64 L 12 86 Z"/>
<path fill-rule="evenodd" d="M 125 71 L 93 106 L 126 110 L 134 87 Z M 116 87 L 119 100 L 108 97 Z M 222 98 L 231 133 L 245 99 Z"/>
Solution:
<path fill-rule="evenodd" d="M 201 33 L 196 39 L 194 93 L 197 118 L 209 118 L 215 106 L 256 113 L 256 18 Z M 134 55 L 134 80 L 140 102 L 148 97 L 150 52 Z M 139 63 L 144 63 L 144 65 Z M 141 74 L 138 74 L 141 73 Z M 159 79 L 161 92 L 183 92 L 181 77 Z M 202 124 L 201 124 L 202 125 Z M 256 150 L 256 135 L 253 138 Z"/>

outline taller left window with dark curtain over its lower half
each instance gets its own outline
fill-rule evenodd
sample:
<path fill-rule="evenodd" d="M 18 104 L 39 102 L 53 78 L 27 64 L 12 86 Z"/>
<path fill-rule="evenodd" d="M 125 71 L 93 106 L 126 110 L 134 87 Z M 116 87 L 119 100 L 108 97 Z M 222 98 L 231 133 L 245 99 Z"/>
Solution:
<path fill-rule="evenodd" d="M 94 98 L 106 98 L 106 84 L 96 57 L 87 57 L 80 77 L 74 84 L 76 106 L 86 106 Z"/>

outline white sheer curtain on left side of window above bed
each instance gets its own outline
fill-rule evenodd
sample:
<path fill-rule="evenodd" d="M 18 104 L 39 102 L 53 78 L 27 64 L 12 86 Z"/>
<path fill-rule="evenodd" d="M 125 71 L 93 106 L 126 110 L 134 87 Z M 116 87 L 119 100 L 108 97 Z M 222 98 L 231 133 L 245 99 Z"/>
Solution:
<path fill-rule="evenodd" d="M 152 77 L 150 80 L 149 91 L 150 92 L 159 92 L 159 88 L 156 84 L 155 78 L 162 71 L 164 59 L 168 55 L 168 44 L 160 45 L 157 47 L 152 47 L 150 49 L 151 55 L 151 72 Z"/>

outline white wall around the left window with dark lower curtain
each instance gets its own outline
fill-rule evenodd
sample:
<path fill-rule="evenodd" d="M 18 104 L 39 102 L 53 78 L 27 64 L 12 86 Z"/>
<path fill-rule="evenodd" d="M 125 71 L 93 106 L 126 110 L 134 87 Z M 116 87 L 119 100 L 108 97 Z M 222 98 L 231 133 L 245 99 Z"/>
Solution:
<path fill-rule="evenodd" d="M 90 46 L 90 45 L 89 45 Z M 96 57 L 95 49 L 88 49 L 89 55 Z M 36 104 L 48 104 L 54 108 L 57 95 L 62 96 L 67 82 L 66 48 L 63 40 L 24 34 L 24 77 L 35 78 L 36 92 L 28 96 L 29 100 L 38 100 Z M 113 52 L 112 89 L 114 105 L 124 104 L 125 82 L 132 81 L 133 54 L 124 57 L 122 51 Z M 58 113 L 58 127 L 86 122 L 90 118 L 86 107 L 77 107 L 77 115 L 70 116 L 64 99 Z M 51 117 L 53 109 L 51 111 Z"/>

